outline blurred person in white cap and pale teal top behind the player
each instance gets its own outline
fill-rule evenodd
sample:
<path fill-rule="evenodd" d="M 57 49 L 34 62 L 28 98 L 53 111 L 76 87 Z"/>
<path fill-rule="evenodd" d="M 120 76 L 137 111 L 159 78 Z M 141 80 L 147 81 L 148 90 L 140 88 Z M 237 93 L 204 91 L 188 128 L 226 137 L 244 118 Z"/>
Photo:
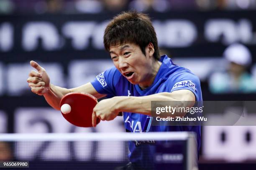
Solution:
<path fill-rule="evenodd" d="M 256 81 L 246 69 L 251 64 L 251 52 L 241 44 L 230 45 L 224 51 L 227 70 L 213 73 L 209 79 L 212 93 L 256 92 Z M 217 65 L 216 65 L 217 66 Z"/>

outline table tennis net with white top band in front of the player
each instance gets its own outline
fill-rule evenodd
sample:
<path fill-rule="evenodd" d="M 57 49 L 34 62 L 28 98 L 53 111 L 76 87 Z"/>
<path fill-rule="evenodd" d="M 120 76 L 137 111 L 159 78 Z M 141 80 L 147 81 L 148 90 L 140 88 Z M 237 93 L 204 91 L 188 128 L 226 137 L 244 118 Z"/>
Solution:
<path fill-rule="evenodd" d="M 30 170 L 112 170 L 130 162 L 128 141 L 132 141 L 136 149 L 142 148 L 144 151 L 141 152 L 147 150 L 143 147 L 153 147 L 154 154 L 148 152 L 152 159 L 144 160 L 148 165 L 154 161 L 166 164 L 168 161 L 164 159 L 169 159 L 174 165 L 187 162 L 182 169 L 190 166 L 187 165 L 189 161 L 196 166 L 195 160 L 190 160 L 195 155 L 189 157 L 196 150 L 194 134 L 186 132 L 0 134 L 0 148 L 2 146 L 4 150 L 0 159 L 29 161 Z M 157 148 L 158 143 L 164 148 Z M 169 153 L 166 152 L 168 148 L 171 150 Z M 173 151 L 172 148 L 179 149 Z M 140 152 L 137 156 L 140 157 Z"/>

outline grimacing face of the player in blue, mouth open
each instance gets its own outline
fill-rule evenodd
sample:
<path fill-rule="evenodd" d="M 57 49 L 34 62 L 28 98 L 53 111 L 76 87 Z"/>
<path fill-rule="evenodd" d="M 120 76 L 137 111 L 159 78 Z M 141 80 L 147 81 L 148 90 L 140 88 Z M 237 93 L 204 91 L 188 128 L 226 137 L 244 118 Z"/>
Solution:
<path fill-rule="evenodd" d="M 147 82 L 150 79 L 152 62 L 138 45 L 125 43 L 110 46 L 110 55 L 115 67 L 132 84 Z"/>

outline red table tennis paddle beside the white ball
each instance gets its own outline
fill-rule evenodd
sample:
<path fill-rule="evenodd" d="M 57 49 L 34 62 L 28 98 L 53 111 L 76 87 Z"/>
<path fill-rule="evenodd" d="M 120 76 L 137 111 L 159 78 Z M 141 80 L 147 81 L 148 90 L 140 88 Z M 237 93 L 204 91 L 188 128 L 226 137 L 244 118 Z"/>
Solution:
<path fill-rule="evenodd" d="M 62 97 L 60 107 L 64 104 L 71 107 L 69 113 L 61 112 L 68 122 L 79 127 L 92 127 L 92 112 L 97 104 L 96 97 L 88 93 L 70 92 Z M 99 122 L 100 119 L 97 118 L 97 124 Z"/>

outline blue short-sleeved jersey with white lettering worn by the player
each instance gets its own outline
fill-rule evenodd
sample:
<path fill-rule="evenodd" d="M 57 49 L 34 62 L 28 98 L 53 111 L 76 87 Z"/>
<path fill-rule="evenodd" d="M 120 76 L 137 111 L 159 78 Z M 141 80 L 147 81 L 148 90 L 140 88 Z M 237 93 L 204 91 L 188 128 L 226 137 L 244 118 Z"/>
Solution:
<path fill-rule="evenodd" d="M 100 73 L 91 83 L 97 92 L 108 96 L 146 96 L 187 89 L 195 94 L 197 101 L 202 101 L 200 80 L 196 75 L 184 67 L 175 65 L 166 55 L 161 56 L 160 61 L 162 64 L 154 82 L 146 90 L 141 90 L 138 85 L 131 84 L 115 67 Z M 150 116 L 132 112 L 123 112 L 123 118 L 126 132 L 193 131 L 197 134 L 197 149 L 200 148 L 200 126 L 151 126 Z M 147 168 L 147 163 L 152 160 L 150 148 L 138 147 L 138 145 L 138 142 L 129 142 L 131 152 L 128 155 L 129 159 L 132 163 Z"/>

